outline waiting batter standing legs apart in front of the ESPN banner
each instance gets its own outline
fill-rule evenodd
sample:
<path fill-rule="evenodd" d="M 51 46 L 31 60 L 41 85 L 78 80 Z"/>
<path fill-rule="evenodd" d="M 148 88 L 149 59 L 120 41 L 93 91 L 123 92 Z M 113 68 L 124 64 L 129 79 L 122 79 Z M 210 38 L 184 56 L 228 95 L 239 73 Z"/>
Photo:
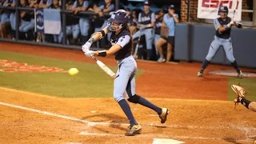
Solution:
<path fill-rule="evenodd" d="M 216 34 L 213 42 L 210 44 L 206 59 L 204 62 L 202 62 L 202 68 L 198 72 L 198 77 L 202 77 L 203 70 L 206 69 L 210 61 L 214 58 L 214 55 L 218 51 L 219 47 L 222 46 L 225 50 L 226 58 L 231 62 L 231 65 L 234 66 L 234 69 L 237 70 L 238 78 L 242 78 L 242 71 L 239 69 L 238 63 L 234 59 L 233 46 L 230 38 L 231 26 L 234 25 L 238 28 L 242 28 L 242 23 L 234 22 L 233 19 L 227 17 L 228 13 L 229 10 L 227 6 L 219 7 L 218 15 L 220 15 L 220 18 L 214 19 Z"/>

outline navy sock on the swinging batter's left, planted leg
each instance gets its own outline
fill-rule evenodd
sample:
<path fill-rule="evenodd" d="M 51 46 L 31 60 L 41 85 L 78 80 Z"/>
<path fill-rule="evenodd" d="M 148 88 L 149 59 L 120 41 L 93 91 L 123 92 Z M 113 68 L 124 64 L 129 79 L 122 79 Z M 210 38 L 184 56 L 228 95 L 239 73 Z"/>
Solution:
<path fill-rule="evenodd" d="M 131 125 L 138 125 L 138 122 L 135 121 L 134 115 L 131 113 L 130 106 L 125 99 L 122 99 L 118 102 L 121 106 L 122 111 L 126 114 L 126 117 L 129 119 Z"/>

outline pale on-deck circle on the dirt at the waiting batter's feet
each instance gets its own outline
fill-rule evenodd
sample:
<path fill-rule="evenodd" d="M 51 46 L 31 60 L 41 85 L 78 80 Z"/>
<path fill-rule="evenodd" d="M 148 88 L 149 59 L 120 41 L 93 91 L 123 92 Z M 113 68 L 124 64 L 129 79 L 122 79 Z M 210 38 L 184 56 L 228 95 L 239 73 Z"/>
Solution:
<path fill-rule="evenodd" d="M 210 71 L 209 74 L 226 75 L 231 77 L 238 76 L 238 73 L 235 70 L 214 70 Z M 242 74 L 244 77 L 256 78 L 256 73 L 254 72 L 242 72 Z"/>

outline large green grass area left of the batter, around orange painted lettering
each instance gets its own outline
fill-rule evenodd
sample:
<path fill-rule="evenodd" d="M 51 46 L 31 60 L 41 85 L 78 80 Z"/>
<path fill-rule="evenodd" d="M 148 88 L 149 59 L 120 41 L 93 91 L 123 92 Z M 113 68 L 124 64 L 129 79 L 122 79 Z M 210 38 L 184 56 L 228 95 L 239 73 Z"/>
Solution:
<path fill-rule="evenodd" d="M 98 65 L 0 51 L 0 59 L 26 62 L 29 65 L 54 66 L 64 70 L 76 67 L 79 73 L 5 73 L 0 71 L 0 86 L 64 98 L 109 98 L 113 95 L 113 78 Z M 114 61 L 114 60 L 113 60 Z M 116 71 L 117 67 L 109 66 Z M 137 77 L 143 73 L 138 70 Z"/>

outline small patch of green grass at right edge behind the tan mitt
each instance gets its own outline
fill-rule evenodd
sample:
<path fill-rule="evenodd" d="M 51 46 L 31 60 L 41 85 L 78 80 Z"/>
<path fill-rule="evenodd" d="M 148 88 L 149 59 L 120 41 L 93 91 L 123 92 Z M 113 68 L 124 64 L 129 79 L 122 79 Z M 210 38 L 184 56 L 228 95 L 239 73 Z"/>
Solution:
<path fill-rule="evenodd" d="M 238 85 L 245 88 L 246 90 L 246 98 L 250 101 L 256 102 L 256 79 L 255 78 L 234 78 L 229 77 L 229 86 L 228 86 L 228 99 L 234 100 L 236 98 L 236 94 L 230 88 L 231 85 Z"/>

